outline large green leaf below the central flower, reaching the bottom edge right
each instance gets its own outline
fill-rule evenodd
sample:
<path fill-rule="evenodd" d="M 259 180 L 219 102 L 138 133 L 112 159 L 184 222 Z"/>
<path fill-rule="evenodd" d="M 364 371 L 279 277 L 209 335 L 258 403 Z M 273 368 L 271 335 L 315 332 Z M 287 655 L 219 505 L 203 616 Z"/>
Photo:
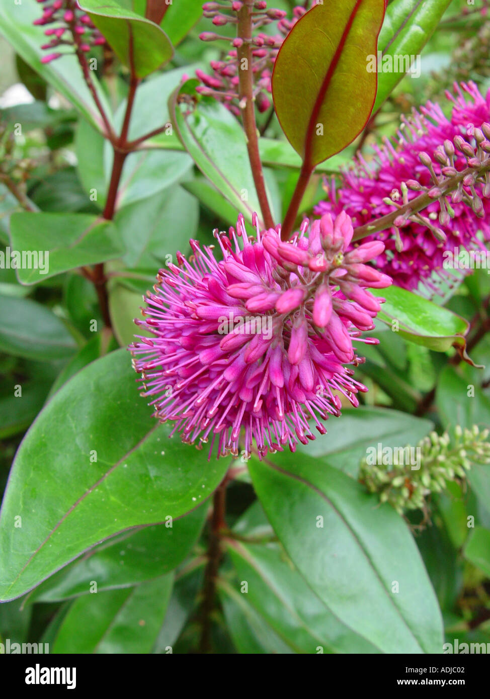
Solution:
<path fill-rule="evenodd" d="M 254 487 L 329 610 L 381 652 L 439 653 L 440 610 L 403 519 L 336 468 L 305 454 L 274 459 L 279 465 L 249 461 Z"/>

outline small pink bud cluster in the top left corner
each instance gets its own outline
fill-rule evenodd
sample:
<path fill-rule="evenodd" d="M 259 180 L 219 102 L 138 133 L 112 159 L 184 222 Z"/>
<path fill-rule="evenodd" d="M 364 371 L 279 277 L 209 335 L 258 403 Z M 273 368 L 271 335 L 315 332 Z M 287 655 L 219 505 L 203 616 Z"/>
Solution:
<path fill-rule="evenodd" d="M 62 52 L 55 51 L 60 46 L 75 45 L 75 49 L 87 53 L 93 46 L 106 43 L 105 38 L 96 29 L 89 15 L 86 15 L 78 7 L 76 0 L 37 0 L 43 3 L 43 16 L 34 20 L 34 24 L 44 26 L 45 24 L 56 24 L 45 30 L 45 35 L 50 37 L 50 41 L 41 48 L 50 50 L 51 53 L 41 58 L 41 63 L 50 63 L 63 55 Z"/>

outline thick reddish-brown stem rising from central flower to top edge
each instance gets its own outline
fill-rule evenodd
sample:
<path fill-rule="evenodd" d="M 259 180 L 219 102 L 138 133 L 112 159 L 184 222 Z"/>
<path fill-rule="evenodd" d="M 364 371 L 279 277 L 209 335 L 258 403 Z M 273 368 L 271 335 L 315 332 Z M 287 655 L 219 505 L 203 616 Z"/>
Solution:
<path fill-rule="evenodd" d="M 240 108 L 242 110 L 243 128 L 247 138 L 247 152 L 252 168 L 255 189 L 266 228 L 274 227 L 274 219 L 269 206 L 264 181 L 264 171 L 259 154 L 259 132 L 255 121 L 254 74 L 252 71 L 252 11 L 253 0 L 246 0 L 238 12 L 237 36 L 243 40 L 238 48 L 238 80 Z"/>

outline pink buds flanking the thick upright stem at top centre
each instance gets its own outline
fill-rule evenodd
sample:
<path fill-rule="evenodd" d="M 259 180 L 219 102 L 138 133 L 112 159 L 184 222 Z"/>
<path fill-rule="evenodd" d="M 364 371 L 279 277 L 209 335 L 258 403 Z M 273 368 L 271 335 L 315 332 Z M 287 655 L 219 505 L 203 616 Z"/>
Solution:
<path fill-rule="evenodd" d="M 231 10 L 236 13 L 242 7 L 242 3 L 235 1 L 231 4 Z M 264 34 L 260 32 L 252 37 L 252 73 L 254 75 L 254 99 L 259 112 L 265 112 L 271 107 L 271 78 L 274 67 L 275 57 L 286 38 L 291 27 L 304 15 L 305 8 L 299 6 L 293 10 L 293 18 L 288 20 L 286 13 L 283 10 L 267 10 L 266 3 L 259 0 L 254 5 L 256 10 L 255 24 L 261 24 L 277 21 L 278 32 L 274 35 Z M 234 21 L 233 15 L 226 15 L 222 11 L 222 6 L 217 3 L 209 2 L 203 6 L 205 16 L 212 17 L 212 22 L 217 26 L 221 26 L 226 22 Z M 260 13 L 263 13 L 261 16 Z M 257 15 L 259 15 L 257 17 Z M 203 32 L 201 38 L 204 41 L 213 41 L 219 38 L 210 32 Z M 212 61 L 210 63 L 212 73 L 208 75 L 204 71 L 197 70 L 196 76 L 201 80 L 203 85 L 196 88 L 201 94 L 213 96 L 219 101 L 222 101 L 231 112 L 235 115 L 240 115 L 238 106 L 238 52 L 243 44 L 242 38 L 235 38 L 231 41 L 233 48 L 228 52 L 223 60 Z"/>

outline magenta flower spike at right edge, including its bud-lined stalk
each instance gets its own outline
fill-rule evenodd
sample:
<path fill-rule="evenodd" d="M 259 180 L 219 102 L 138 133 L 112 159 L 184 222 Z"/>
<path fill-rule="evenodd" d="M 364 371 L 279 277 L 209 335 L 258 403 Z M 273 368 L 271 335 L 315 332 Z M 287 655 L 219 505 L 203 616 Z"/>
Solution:
<path fill-rule="evenodd" d="M 315 208 L 317 214 L 345 210 L 356 227 L 402 209 L 365 240 L 384 241 L 376 266 L 394 284 L 430 294 L 459 280 L 444 264 L 446 252 L 485 250 L 490 240 L 490 91 L 485 98 L 474 82 L 454 91 L 447 93 L 450 117 L 432 102 L 403 117 L 396 143 L 375 146 L 370 162 L 356 157 L 340 186 L 331 180 L 329 200 Z M 410 203 L 419 196 L 428 203 L 417 212 Z"/>

